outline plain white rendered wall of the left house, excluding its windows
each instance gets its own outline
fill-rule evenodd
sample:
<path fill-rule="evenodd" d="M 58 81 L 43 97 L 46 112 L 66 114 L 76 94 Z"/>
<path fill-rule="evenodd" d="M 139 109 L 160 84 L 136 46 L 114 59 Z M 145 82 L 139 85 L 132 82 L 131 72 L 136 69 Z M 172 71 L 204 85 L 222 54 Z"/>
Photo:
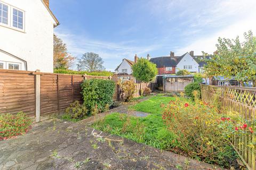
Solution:
<path fill-rule="evenodd" d="M 0 25 L 0 48 L 27 62 L 27 70 L 53 72 L 54 20 L 41 0 L 0 0 L 25 11 L 25 31 Z M 9 8 L 10 11 L 10 8 Z M 1 58 L 4 58 L 0 53 Z"/>

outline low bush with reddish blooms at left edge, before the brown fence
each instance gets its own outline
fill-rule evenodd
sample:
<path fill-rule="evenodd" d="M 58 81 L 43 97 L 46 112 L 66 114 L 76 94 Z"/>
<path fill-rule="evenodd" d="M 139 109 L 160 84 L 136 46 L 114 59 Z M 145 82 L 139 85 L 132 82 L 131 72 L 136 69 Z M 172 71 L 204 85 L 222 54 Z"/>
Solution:
<path fill-rule="evenodd" d="M 23 112 L 17 115 L 0 115 L 0 140 L 25 134 L 31 129 L 32 120 Z"/>

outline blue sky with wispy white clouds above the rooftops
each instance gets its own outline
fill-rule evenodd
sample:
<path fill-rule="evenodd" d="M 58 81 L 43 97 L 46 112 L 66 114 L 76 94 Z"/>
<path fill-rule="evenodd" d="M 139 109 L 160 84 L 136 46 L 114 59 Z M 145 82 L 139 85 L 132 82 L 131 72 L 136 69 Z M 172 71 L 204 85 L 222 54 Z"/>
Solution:
<path fill-rule="evenodd" d="M 50 0 L 50 8 L 69 53 L 97 53 L 111 71 L 135 54 L 213 53 L 218 37 L 256 32 L 255 0 Z"/>

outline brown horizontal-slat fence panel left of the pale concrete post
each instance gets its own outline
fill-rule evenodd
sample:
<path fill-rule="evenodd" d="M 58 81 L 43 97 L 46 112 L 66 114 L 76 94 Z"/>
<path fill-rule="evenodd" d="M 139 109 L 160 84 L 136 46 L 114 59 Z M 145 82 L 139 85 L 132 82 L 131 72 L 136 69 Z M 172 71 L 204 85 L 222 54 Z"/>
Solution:
<path fill-rule="evenodd" d="M 35 113 L 34 76 L 29 72 L 0 72 L 0 113 Z"/>

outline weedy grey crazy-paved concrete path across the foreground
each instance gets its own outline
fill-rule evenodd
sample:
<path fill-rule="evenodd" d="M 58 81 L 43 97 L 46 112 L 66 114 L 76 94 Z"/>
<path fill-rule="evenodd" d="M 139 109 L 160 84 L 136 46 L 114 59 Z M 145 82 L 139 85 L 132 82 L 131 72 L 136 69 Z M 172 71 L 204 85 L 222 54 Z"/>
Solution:
<path fill-rule="evenodd" d="M 0 141 L 0 169 L 215 169 L 169 151 L 51 120 L 26 135 Z"/>

